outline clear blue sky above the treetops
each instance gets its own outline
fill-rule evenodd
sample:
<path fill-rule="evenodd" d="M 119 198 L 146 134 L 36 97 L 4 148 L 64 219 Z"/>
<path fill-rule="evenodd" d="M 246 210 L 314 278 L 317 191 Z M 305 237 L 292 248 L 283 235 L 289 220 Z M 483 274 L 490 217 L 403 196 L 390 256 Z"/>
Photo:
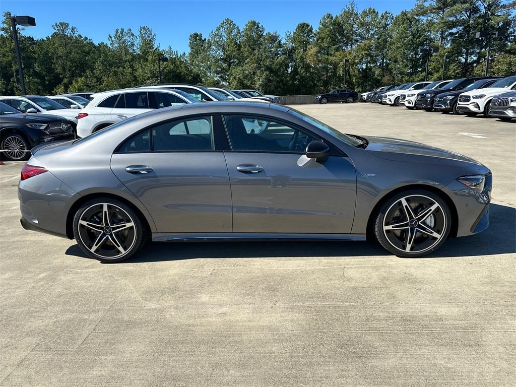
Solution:
<path fill-rule="evenodd" d="M 374 7 L 379 12 L 389 10 L 394 14 L 411 9 L 414 3 L 415 0 L 356 0 L 359 10 Z M 316 28 L 322 15 L 336 14 L 346 4 L 347 0 L 0 0 L 0 11 L 36 18 L 36 27 L 24 31 L 35 38 L 52 34 L 52 24 L 60 21 L 74 25 L 81 35 L 94 42 L 107 41 L 115 28 L 131 28 L 136 32 L 139 26 L 148 25 L 162 49 L 170 45 L 181 53 L 188 51 L 191 33 L 207 36 L 225 18 L 240 27 L 254 19 L 262 23 L 266 31 L 277 31 L 283 37 L 300 22 L 308 22 Z"/>

